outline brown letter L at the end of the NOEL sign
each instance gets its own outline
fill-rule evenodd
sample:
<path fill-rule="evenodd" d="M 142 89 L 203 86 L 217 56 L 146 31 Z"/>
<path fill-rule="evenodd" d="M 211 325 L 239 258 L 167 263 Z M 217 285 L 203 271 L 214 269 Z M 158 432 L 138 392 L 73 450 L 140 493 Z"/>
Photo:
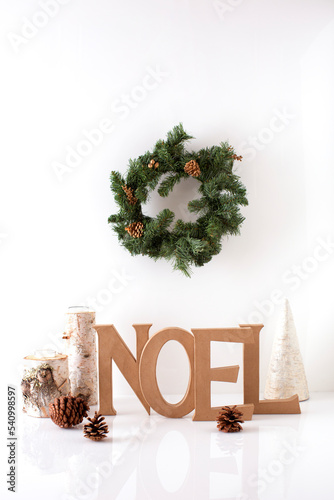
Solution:
<path fill-rule="evenodd" d="M 300 413 L 298 394 L 287 399 L 266 399 L 260 401 L 260 347 L 259 336 L 263 325 L 240 325 L 251 328 L 254 343 L 244 344 L 244 403 L 254 403 L 254 414 Z"/>

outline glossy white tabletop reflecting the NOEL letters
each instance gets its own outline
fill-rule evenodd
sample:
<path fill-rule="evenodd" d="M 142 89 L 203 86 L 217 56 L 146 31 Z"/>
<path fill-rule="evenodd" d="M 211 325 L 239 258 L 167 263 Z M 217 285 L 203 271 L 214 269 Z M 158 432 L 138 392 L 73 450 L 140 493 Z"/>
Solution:
<path fill-rule="evenodd" d="M 15 498 L 334 498 L 333 393 L 312 394 L 301 415 L 256 415 L 236 434 L 191 416 L 149 417 L 134 397 L 115 407 L 110 437 L 98 443 L 83 438 L 82 426 L 20 414 Z"/>

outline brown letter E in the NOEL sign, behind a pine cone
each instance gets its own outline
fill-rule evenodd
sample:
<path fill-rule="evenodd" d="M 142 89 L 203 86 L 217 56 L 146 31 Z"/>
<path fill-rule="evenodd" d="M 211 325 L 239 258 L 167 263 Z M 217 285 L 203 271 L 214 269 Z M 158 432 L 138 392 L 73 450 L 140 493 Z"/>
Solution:
<path fill-rule="evenodd" d="M 225 366 L 211 368 L 210 342 L 242 342 L 252 344 L 253 331 L 251 328 L 203 328 L 192 329 L 195 336 L 195 414 L 193 420 L 215 420 L 220 407 L 211 407 L 211 381 L 236 382 L 239 366 Z M 251 403 L 251 402 L 250 402 Z M 237 406 L 243 412 L 244 420 L 251 420 L 254 410 L 253 404 Z"/>

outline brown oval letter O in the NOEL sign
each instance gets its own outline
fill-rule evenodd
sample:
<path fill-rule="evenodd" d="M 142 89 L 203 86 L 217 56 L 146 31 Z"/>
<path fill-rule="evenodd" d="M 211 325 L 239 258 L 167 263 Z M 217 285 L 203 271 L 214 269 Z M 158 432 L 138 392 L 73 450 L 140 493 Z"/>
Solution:
<path fill-rule="evenodd" d="M 157 382 L 157 361 L 159 352 L 169 340 L 176 340 L 186 350 L 190 376 L 183 399 L 177 404 L 168 403 L 162 396 Z M 160 415 L 180 418 L 194 409 L 194 337 L 182 328 L 164 328 L 147 342 L 140 360 L 140 383 L 147 403 Z"/>

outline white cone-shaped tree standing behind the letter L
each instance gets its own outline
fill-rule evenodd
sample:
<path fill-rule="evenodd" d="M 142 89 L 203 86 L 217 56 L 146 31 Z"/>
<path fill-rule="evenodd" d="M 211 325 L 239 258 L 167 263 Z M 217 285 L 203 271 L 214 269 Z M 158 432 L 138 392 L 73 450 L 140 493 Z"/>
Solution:
<path fill-rule="evenodd" d="M 273 344 L 264 391 L 265 399 L 283 399 L 298 394 L 309 398 L 304 364 L 289 301 L 285 299 Z"/>

